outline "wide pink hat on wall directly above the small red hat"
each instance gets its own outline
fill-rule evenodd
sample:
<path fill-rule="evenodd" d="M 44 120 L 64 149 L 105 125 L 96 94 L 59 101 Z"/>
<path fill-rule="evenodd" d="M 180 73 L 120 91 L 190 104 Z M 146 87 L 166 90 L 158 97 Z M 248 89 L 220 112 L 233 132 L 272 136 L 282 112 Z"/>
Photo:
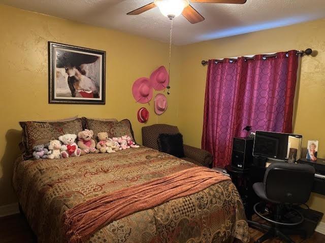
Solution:
<path fill-rule="evenodd" d="M 153 90 L 147 77 L 138 78 L 132 86 L 132 94 L 139 103 L 148 103 L 152 99 Z"/>

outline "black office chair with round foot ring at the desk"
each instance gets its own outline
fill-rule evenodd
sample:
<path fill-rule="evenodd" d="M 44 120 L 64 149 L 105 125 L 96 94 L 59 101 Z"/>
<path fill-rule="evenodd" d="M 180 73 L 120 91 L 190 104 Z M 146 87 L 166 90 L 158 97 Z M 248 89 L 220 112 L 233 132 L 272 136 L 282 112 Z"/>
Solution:
<path fill-rule="evenodd" d="M 253 184 L 253 190 L 257 196 L 273 206 L 269 210 L 270 214 L 264 215 L 263 212 L 257 210 L 258 208 L 265 210 L 263 204 L 257 203 L 254 205 L 254 212 L 271 223 L 271 225 L 266 225 L 248 221 L 251 227 L 267 231 L 255 241 L 256 243 L 275 237 L 279 237 L 284 242 L 295 243 L 287 235 L 298 234 L 305 236 L 304 231 L 293 229 L 304 221 L 304 216 L 291 206 L 307 202 L 311 193 L 314 174 L 315 169 L 312 166 L 283 162 L 272 163 L 266 170 L 264 182 Z M 291 218 L 288 218 L 288 216 L 291 216 Z M 293 222 L 293 219 L 295 219 L 295 222 Z"/>

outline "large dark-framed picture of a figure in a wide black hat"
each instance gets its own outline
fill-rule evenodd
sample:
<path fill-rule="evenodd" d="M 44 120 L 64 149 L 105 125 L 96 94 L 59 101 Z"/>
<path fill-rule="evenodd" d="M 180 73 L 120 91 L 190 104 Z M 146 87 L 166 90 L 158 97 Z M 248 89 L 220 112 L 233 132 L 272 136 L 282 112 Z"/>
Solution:
<path fill-rule="evenodd" d="M 49 103 L 105 104 L 106 52 L 49 42 Z"/>

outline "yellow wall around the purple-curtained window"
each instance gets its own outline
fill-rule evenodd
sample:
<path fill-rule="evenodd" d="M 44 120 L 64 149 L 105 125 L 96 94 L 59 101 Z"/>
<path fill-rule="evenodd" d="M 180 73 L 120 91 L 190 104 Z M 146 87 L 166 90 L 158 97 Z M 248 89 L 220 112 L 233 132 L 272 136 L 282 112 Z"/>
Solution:
<path fill-rule="evenodd" d="M 306 48 L 318 54 L 302 58 L 294 132 L 303 135 L 305 147 L 307 140 L 318 139 L 318 156 L 325 157 L 325 19 L 181 47 L 178 115 L 184 142 L 201 146 L 207 72 L 201 60 Z M 325 196 L 313 194 L 309 204 L 325 212 Z"/>

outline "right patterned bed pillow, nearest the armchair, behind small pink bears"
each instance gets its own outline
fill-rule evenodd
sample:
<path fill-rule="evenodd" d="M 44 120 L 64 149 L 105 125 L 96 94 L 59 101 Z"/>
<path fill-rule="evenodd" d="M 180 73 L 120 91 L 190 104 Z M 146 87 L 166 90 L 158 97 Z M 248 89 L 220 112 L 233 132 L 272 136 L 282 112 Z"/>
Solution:
<path fill-rule="evenodd" d="M 132 125 L 128 119 L 120 121 L 104 121 L 83 117 L 83 123 L 85 129 L 93 131 L 95 137 L 100 132 L 107 132 L 109 138 L 127 135 L 135 141 Z"/>

